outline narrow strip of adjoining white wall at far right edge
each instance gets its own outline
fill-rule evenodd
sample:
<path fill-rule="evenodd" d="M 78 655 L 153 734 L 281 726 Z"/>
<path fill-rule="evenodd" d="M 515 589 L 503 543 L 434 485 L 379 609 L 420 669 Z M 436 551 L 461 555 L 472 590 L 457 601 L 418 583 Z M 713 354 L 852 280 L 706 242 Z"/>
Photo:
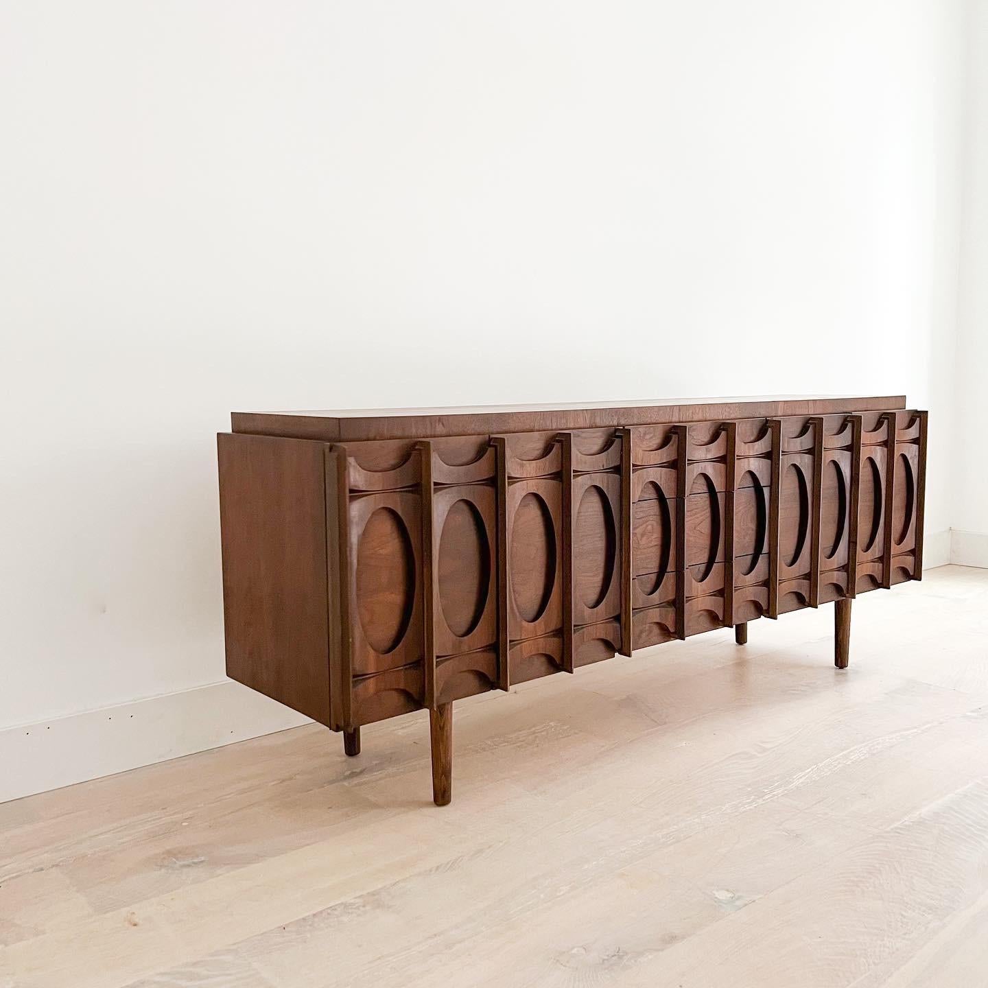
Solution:
<path fill-rule="evenodd" d="M 964 128 L 953 562 L 988 566 L 988 0 L 974 0 Z"/>

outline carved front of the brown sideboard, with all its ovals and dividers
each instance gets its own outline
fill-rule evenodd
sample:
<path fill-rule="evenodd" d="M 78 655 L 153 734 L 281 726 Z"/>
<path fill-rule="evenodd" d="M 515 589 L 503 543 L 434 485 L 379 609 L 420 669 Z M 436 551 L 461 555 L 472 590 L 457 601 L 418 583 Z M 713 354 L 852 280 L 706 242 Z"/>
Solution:
<path fill-rule="evenodd" d="M 354 726 L 922 571 L 925 412 L 326 448 Z"/>

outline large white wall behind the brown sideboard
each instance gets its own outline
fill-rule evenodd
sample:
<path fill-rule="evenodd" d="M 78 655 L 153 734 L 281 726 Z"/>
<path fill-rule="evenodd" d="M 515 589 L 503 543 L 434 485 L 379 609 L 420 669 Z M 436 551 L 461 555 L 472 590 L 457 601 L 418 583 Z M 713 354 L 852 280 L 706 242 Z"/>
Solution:
<path fill-rule="evenodd" d="M 18 757 L 222 680 L 231 409 L 905 391 L 946 532 L 965 8 L 0 0 Z"/>

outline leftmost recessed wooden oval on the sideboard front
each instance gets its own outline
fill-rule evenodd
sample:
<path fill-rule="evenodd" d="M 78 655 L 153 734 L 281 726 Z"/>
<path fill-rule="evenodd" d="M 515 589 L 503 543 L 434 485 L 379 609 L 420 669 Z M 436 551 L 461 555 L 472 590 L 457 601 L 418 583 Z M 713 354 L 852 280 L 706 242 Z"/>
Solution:
<path fill-rule="evenodd" d="M 408 530 L 390 508 L 371 514 L 357 546 L 357 612 L 364 637 L 380 655 L 394 651 L 415 604 L 415 553 Z"/>

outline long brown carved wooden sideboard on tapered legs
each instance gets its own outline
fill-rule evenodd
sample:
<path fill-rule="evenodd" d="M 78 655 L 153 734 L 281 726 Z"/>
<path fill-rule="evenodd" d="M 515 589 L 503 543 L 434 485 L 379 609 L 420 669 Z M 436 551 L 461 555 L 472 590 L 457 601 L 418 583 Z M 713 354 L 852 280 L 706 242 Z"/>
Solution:
<path fill-rule="evenodd" d="M 218 437 L 226 670 L 333 730 L 919 579 L 905 398 L 235 413 Z"/>

